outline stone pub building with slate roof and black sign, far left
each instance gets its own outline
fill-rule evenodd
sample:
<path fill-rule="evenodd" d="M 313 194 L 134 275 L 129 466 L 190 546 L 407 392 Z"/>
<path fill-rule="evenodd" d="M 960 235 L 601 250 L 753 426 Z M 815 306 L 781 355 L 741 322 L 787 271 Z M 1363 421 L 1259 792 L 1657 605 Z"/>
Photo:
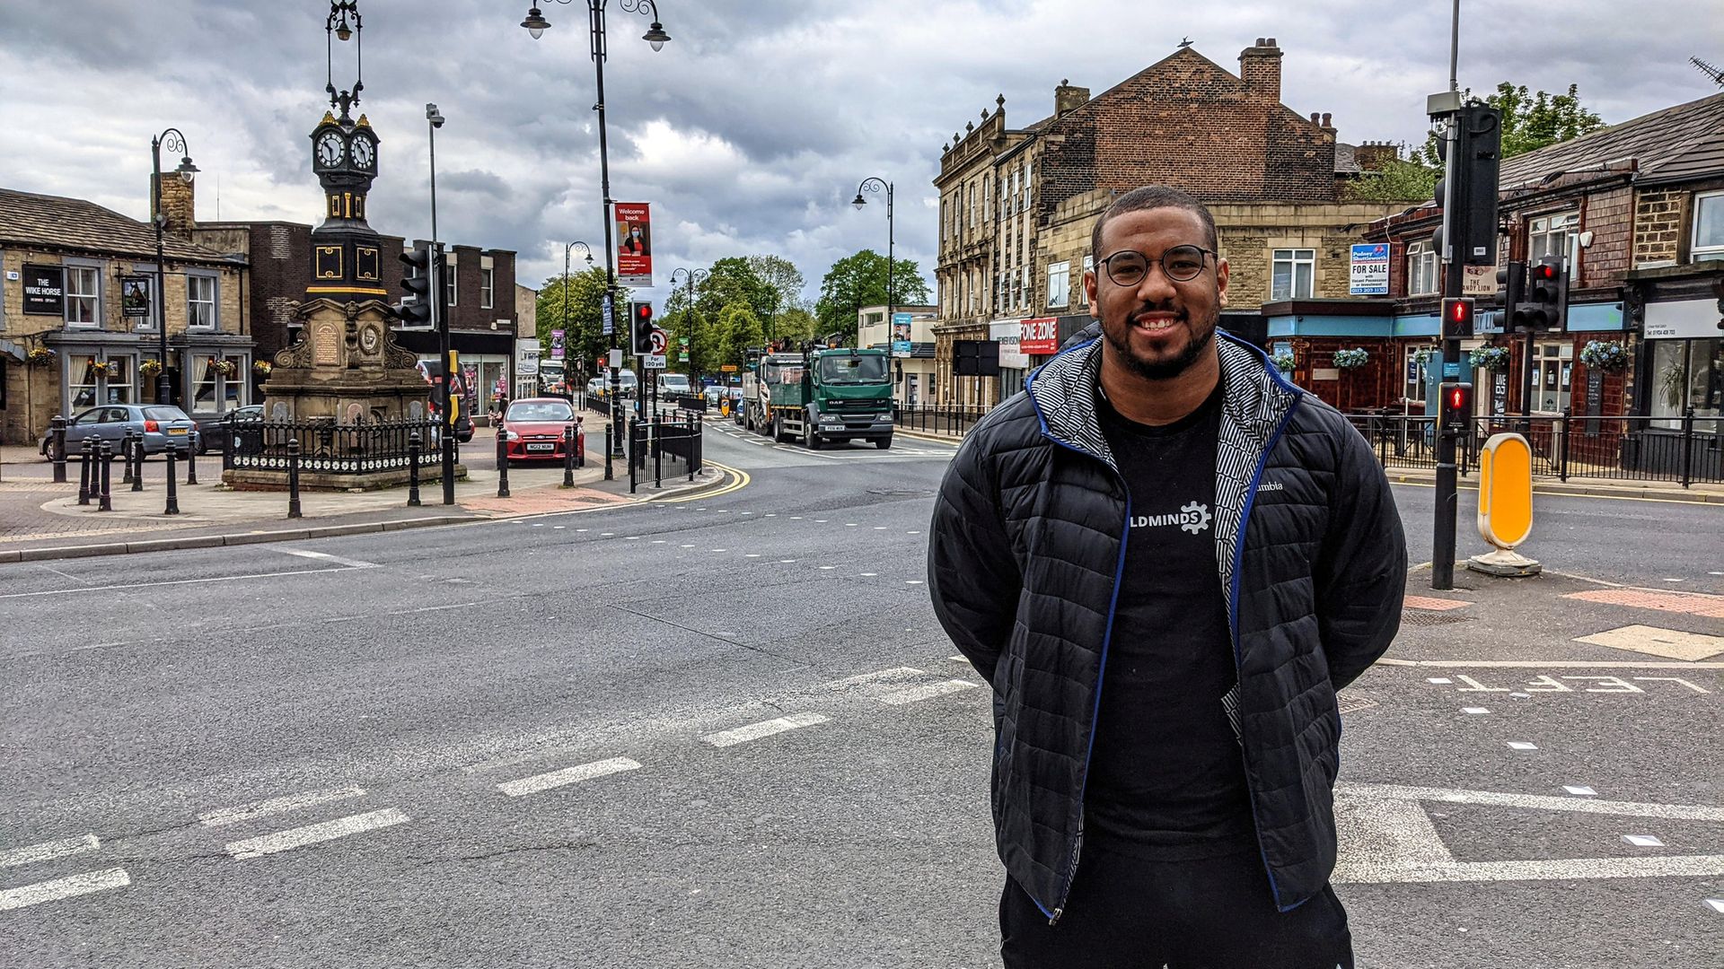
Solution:
<path fill-rule="evenodd" d="M 252 403 L 243 253 L 188 240 L 191 186 L 162 181 L 166 233 L 81 198 L 0 190 L 0 441 L 55 414 L 153 403 L 167 324 L 172 403 L 197 417 Z"/>

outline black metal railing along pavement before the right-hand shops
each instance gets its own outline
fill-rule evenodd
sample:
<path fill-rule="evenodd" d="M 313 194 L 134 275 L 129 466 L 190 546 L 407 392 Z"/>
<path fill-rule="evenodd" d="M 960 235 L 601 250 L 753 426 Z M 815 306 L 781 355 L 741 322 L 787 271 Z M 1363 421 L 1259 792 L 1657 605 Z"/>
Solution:
<path fill-rule="evenodd" d="M 1424 414 L 1348 414 L 1371 441 L 1383 467 L 1436 467 L 1436 417 Z M 1526 436 L 1533 474 L 1540 478 L 1603 478 L 1615 481 L 1724 483 L 1724 421 L 1695 417 L 1591 417 L 1546 414 L 1531 417 L 1469 417 L 1460 436 L 1460 474 L 1477 467 L 1479 448 L 1491 434 Z"/>

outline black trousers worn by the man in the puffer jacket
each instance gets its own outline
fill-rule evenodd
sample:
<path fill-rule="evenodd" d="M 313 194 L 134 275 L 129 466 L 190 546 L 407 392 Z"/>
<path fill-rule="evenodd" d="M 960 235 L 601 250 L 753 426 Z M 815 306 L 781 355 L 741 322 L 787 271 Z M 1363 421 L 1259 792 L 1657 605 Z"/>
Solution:
<path fill-rule="evenodd" d="M 1255 853 L 1150 862 L 1084 845 L 1053 926 L 1005 879 L 1000 936 L 1005 969 L 1353 969 L 1334 890 L 1279 912 Z"/>

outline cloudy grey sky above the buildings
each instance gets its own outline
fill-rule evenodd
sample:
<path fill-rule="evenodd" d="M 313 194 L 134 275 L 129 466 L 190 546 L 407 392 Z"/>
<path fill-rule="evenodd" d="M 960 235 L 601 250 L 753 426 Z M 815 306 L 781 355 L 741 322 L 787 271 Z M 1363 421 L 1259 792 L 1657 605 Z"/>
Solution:
<path fill-rule="evenodd" d="M 1331 112 L 1343 141 L 1421 141 L 1424 95 L 1448 86 L 1450 0 L 660 0 L 674 38 L 610 0 L 605 69 L 612 195 L 653 203 L 671 269 L 790 257 L 810 291 L 833 260 L 884 250 L 931 279 L 940 147 L 1005 95 L 1007 121 L 1052 110 L 1062 78 L 1100 93 L 1191 38 L 1229 71 L 1277 38 L 1283 100 Z M 424 103 L 438 131 L 443 240 L 519 252 L 521 279 L 600 248 L 598 131 L 586 12 L 541 0 L 360 0 L 364 102 L 379 136 L 371 222 L 429 236 Z M 1605 121 L 1715 93 L 1688 59 L 1724 66 L 1724 0 L 1462 0 L 1460 83 L 1581 86 Z M 1527 12 L 1560 26 L 1533 41 Z M 150 138 L 178 126 L 202 169 L 198 219 L 321 212 L 307 134 L 328 107 L 328 0 L 0 0 L 0 186 L 148 212 Z M 353 79 L 336 43 L 334 81 Z M 1145 138 L 1153 138 L 1146 131 Z"/>

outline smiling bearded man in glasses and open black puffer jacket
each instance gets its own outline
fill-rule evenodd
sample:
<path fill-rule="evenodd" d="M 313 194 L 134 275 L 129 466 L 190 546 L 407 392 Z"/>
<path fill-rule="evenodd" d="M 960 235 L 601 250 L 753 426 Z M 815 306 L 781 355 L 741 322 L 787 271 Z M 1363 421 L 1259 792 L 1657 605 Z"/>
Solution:
<path fill-rule="evenodd" d="M 929 531 L 934 612 L 995 690 L 1005 964 L 1350 969 L 1334 691 L 1400 622 L 1388 481 L 1215 333 L 1196 198 L 1121 195 L 1091 248 L 1102 338 L 971 431 Z"/>

